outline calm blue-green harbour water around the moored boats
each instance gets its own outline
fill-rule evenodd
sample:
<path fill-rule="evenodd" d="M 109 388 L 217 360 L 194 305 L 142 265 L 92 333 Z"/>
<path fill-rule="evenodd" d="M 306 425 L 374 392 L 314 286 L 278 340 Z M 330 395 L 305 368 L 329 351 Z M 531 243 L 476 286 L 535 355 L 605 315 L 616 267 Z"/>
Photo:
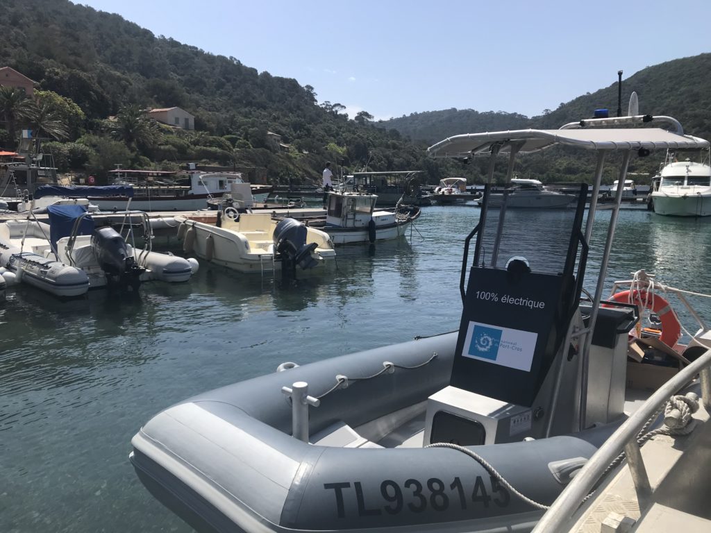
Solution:
<path fill-rule="evenodd" d="M 515 216 L 512 231 L 530 242 L 558 215 Z M 593 246 L 609 216 L 597 213 Z M 98 291 L 60 302 L 31 288 L 9 291 L 0 302 L 0 531 L 190 531 L 128 461 L 141 424 L 283 361 L 456 329 L 462 246 L 478 219 L 470 206 L 424 208 L 407 239 L 339 248 L 333 274 L 287 285 L 202 263 L 188 283 L 144 284 L 139 298 Z M 593 249 L 591 290 L 599 256 Z M 609 284 L 645 268 L 710 292 L 708 264 L 711 220 L 620 213 Z M 710 301 L 694 303 L 711 317 Z"/>

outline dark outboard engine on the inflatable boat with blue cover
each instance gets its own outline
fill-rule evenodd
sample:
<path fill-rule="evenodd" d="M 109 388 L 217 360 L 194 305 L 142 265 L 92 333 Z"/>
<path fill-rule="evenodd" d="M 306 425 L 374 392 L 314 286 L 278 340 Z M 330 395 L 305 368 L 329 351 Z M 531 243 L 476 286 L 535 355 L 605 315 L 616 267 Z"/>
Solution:
<path fill-rule="evenodd" d="M 146 269 L 138 266 L 129 254 L 126 241 L 112 227 L 101 227 L 91 235 L 91 248 L 101 269 L 106 273 L 109 284 L 138 289 L 141 274 Z"/>

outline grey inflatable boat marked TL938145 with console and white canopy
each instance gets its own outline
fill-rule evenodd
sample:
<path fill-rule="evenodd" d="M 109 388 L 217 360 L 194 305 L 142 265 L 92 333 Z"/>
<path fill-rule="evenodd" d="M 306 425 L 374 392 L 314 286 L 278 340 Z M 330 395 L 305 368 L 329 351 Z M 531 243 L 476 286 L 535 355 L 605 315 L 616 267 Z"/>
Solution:
<path fill-rule="evenodd" d="M 510 178 L 516 153 L 552 144 L 597 151 L 584 230 L 587 185 L 576 208 L 550 219 L 560 227 L 529 242 L 506 238 L 522 215 L 507 217 L 506 195 L 488 210 L 487 188 L 464 242 L 458 333 L 286 365 L 169 407 L 132 441 L 146 487 L 208 531 L 530 530 L 625 419 L 627 332 L 638 316 L 600 306 L 621 189 L 597 289 L 580 301 L 605 155 L 623 151 L 624 180 L 633 151 L 708 143 L 583 127 L 456 136 L 429 151 L 512 152 Z M 492 161 L 490 180 L 493 171 Z"/>

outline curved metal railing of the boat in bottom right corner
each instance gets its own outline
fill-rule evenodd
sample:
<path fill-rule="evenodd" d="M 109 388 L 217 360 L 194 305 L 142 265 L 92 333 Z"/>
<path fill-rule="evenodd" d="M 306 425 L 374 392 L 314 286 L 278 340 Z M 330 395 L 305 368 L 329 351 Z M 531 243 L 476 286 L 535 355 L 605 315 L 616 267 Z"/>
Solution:
<path fill-rule="evenodd" d="M 640 510 L 643 511 L 643 508 L 651 503 L 653 490 L 640 446 L 637 443 L 638 435 L 649 419 L 658 413 L 663 404 L 692 381 L 697 374 L 700 376 L 702 404 L 707 411 L 711 411 L 711 349 L 707 349 L 700 357 L 657 389 L 629 419 L 624 421 L 575 475 L 570 485 L 563 490 L 536 524 L 532 533 L 570 531 L 571 521 L 577 510 L 587 499 L 599 479 L 602 478 L 609 465 L 623 450 L 634 482 Z"/>

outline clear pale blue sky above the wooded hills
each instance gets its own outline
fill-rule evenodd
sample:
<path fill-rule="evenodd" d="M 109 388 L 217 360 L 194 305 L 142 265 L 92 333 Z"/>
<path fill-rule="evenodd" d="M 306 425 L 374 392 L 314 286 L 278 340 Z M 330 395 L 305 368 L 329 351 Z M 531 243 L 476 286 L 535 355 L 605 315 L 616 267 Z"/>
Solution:
<path fill-rule="evenodd" d="M 77 3 L 293 77 L 319 102 L 376 119 L 450 107 L 531 117 L 611 85 L 618 70 L 624 80 L 711 52 L 711 0 Z"/>

